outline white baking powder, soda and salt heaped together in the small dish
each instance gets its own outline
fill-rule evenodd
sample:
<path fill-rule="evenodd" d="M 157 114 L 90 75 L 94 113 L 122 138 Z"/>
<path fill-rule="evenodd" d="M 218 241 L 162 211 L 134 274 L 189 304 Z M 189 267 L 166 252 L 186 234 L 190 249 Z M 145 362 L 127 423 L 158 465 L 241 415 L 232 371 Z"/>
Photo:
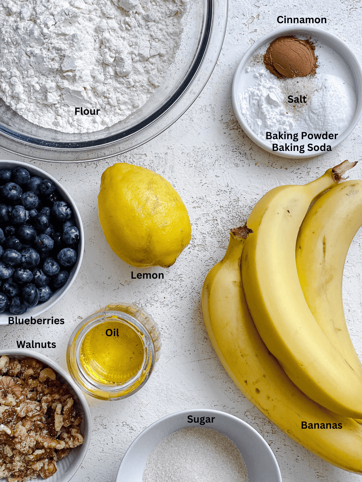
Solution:
<path fill-rule="evenodd" d="M 278 79 L 262 68 L 254 76 L 254 86 L 239 94 L 239 103 L 246 123 L 261 139 L 266 131 L 342 134 L 354 115 L 356 95 L 334 75 Z M 302 95 L 306 103 L 288 103 L 289 95 Z"/>

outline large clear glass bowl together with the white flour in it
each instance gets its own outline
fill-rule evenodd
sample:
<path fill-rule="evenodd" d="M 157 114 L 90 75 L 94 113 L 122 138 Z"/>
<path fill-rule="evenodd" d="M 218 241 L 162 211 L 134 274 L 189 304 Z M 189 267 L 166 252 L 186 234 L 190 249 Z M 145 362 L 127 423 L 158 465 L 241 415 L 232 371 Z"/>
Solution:
<path fill-rule="evenodd" d="M 0 0 L 0 147 L 113 156 L 166 129 L 212 72 L 227 0 Z"/>

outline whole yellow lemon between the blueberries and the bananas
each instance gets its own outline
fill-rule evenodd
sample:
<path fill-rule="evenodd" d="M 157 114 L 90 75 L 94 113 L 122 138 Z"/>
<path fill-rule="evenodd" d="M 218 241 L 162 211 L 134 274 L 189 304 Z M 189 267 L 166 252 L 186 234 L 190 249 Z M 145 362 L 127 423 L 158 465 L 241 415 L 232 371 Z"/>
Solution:
<path fill-rule="evenodd" d="M 112 250 L 131 266 L 167 268 L 191 239 L 187 210 L 170 183 L 125 162 L 102 174 L 98 216 Z"/>

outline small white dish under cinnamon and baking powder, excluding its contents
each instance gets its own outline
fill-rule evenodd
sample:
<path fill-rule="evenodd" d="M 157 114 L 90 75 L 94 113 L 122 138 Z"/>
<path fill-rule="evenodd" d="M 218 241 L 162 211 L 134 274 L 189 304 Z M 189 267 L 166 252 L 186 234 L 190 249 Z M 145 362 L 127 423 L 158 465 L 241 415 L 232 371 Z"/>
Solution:
<path fill-rule="evenodd" d="M 247 134 L 255 144 L 262 147 L 267 152 L 275 154 L 280 157 L 287 157 L 293 159 L 303 159 L 314 156 L 320 156 L 324 151 L 307 151 L 305 147 L 305 153 L 301 154 L 298 151 L 284 152 L 284 151 L 273 151 L 271 144 L 268 144 L 265 140 L 260 138 L 255 134 L 249 124 L 244 119 L 241 113 L 238 95 L 243 92 L 244 89 L 252 86 L 252 71 L 246 72 L 247 67 L 256 67 L 255 58 L 259 59 L 258 67 L 264 67 L 262 62 L 262 57 L 266 52 L 267 47 L 270 42 L 277 39 L 278 37 L 292 35 L 297 38 L 309 39 L 316 45 L 315 54 L 318 56 L 318 67 L 317 73 L 322 74 L 332 74 L 341 77 L 344 81 L 347 81 L 354 89 L 357 105 L 354 116 L 350 121 L 348 128 L 339 133 L 337 139 L 328 140 L 328 144 L 333 149 L 338 144 L 340 144 L 346 137 L 352 132 L 356 127 L 358 121 L 362 115 L 362 69 L 357 60 L 357 57 L 349 49 L 349 47 L 340 39 L 335 37 L 329 32 L 315 27 L 283 27 L 273 30 L 269 34 L 265 35 L 261 39 L 257 40 L 246 54 L 241 59 L 240 64 L 234 75 L 233 87 L 232 87 L 232 101 L 234 112 L 237 120 L 242 128 L 242 130 Z M 338 108 L 338 99 L 331 99 L 331 102 L 335 102 L 336 109 Z M 312 133 L 311 133 L 312 134 Z M 290 142 L 290 141 L 289 141 Z M 305 144 L 306 146 L 311 141 L 300 139 L 299 144 Z M 323 142 L 323 141 L 322 141 Z M 281 144 L 284 144 L 281 141 Z M 316 144 L 316 143 L 315 143 Z"/>

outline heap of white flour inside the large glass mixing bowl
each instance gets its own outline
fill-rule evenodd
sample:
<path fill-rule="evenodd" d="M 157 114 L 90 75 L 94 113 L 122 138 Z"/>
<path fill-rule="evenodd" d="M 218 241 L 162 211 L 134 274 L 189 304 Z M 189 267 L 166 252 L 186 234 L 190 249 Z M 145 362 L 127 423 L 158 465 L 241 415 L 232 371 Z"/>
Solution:
<path fill-rule="evenodd" d="M 160 85 L 182 0 L 0 0 L 0 97 L 34 124 L 94 132 Z M 75 107 L 98 115 L 75 115 Z"/>

